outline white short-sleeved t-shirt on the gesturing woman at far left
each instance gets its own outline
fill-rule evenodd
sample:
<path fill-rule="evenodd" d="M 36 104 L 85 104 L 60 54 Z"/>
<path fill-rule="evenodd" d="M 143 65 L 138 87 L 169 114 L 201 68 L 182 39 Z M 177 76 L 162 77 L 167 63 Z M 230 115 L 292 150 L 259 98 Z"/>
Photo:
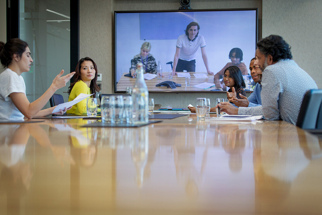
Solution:
<path fill-rule="evenodd" d="M 7 68 L 0 74 L 0 120 L 24 120 L 9 97 L 11 93 L 26 94 L 26 85 L 22 76 Z"/>

